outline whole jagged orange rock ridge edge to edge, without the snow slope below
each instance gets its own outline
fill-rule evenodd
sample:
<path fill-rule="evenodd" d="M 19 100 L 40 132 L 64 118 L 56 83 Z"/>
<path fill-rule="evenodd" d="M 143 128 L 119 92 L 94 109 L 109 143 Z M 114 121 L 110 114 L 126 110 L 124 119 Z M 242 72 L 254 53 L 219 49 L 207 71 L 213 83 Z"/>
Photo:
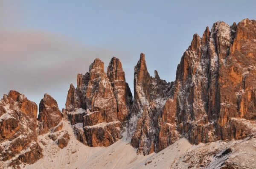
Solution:
<path fill-rule="evenodd" d="M 255 42 L 255 20 L 231 26 L 214 23 L 202 38 L 193 36 L 177 66 L 175 82 L 160 79 L 156 70 L 150 76 L 141 54 L 134 68 L 134 99 L 119 59 L 111 59 L 106 73 L 104 63 L 95 59 L 89 72 L 77 75 L 77 87 L 70 85 L 62 113 L 45 94 L 38 118 L 37 105 L 11 90 L 0 101 L 0 161 L 13 167 L 35 163 L 48 143 L 64 149 L 72 134 L 84 145 L 107 147 L 127 130 L 128 143 L 143 155 L 160 152 L 180 138 L 195 145 L 254 141 Z M 74 133 L 64 127 L 66 119 Z M 189 154 L 184 158 L 195 162 Z M 201 165 L 215 164 L 204 161 Z M 225 165 L 234 164 L 226 161 Z"/>

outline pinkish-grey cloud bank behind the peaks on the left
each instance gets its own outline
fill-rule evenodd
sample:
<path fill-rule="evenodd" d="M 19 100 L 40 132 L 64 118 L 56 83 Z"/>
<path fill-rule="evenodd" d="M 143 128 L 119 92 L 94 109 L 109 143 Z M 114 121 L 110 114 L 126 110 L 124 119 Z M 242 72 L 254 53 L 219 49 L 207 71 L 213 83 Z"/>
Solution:
<path fill-rule="evenodd" d="M 63 106 L 69 84 L 76 84 L 76 74 L 88 71 L 97 57 L 105 68 L 112 56 L 121 56 L 126 65 L 130 62 L 127 51 L 93 47 L 43 31 L 0 31 L 0 37 L 0 94 L 18 90 L 36 102 L 48 92 Z"/>

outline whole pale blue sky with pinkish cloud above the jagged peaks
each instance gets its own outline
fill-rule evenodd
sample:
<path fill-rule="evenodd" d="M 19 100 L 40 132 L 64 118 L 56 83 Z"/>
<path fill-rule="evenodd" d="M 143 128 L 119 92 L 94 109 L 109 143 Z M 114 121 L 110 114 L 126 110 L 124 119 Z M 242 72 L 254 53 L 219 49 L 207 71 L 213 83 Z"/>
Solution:
<path fill-rule="evenodd" d="M 0 95 L 18 90 L 64 107 L 70 83 L 96 57 L 121 59 L 133 90 L 145 54 L 149 73 L 174 81 L 193 34 L 216 21 L 255 19 L 255 0 L 0 0 Z"/>

